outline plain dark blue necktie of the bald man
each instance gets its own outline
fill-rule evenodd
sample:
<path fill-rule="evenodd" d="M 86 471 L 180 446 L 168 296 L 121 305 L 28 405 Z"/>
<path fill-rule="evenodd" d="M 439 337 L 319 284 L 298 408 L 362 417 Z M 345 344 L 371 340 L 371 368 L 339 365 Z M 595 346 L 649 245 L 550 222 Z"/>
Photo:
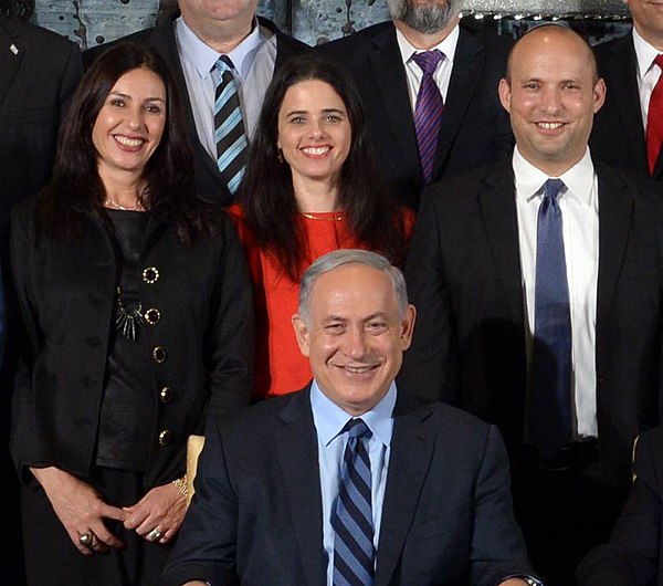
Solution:
<path fill-rule="evenodd" d="M 571 439 L 571 317 L 561 210 L 561 179 L 548 179 L 539 207 L 534 310 L 532 439 L 555 458 Z"/>

